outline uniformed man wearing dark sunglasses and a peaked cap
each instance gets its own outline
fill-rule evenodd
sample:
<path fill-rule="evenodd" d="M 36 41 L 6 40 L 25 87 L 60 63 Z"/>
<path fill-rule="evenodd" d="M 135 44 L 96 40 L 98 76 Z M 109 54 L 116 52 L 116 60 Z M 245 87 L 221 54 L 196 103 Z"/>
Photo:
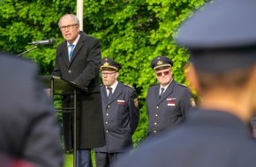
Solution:
<path fill-rule="evenodd" d="M 166 56 L 157 56 L 151 62 L 159 84 L 147 92 L 148 135 L 184 123 L 187 113 L 195 105 L 191 91 L 172 77 L 173 62 Z"/>

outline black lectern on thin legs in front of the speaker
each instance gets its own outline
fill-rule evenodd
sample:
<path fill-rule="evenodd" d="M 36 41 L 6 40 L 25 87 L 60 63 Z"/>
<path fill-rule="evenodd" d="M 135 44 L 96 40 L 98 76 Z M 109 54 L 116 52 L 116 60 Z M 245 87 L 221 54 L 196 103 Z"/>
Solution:
<path fill-rule="evenodd" d="M 56 92 L 59 91 L 65 91 L 65 92 L 72 92 L 71 95 L 73 95 L 74 105 L 73 107 L 69 108 L 55 108 L 56 111 L 72 111 L 73 113 L 73 166 L 76 166 L 76 157 L 77 157 L 77 122 L 76 122 L 76 106 L 77 106 L 77 91 L 87 91 L 87 88 L 83 88 L 77 84 L 74 84 L 70 81 L 64 80 L 63 78 L 59 76 L 40 76 L 41 81 L 43 84 L 45 84 L 47 89 L 50 89 L 49 97 L 50 102 L 54 106 L 54 96 L 56 95 Z M 59 94 L 58 94 L 59 95 Z"/>

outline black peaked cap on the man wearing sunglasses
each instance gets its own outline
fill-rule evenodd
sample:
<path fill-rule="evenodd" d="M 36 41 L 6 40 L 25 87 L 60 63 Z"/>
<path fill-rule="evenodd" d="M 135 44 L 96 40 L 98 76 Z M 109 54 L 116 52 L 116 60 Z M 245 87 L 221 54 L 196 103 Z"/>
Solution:
<path fill-rule="evenodd" d="M 154 58 L 154 60 L 151 62 L 151 68 L 156 69 L 164 69 L 167 67 L 171 67 L 173 65 L 173 62 L 166 56 L 157 56 Z"/>

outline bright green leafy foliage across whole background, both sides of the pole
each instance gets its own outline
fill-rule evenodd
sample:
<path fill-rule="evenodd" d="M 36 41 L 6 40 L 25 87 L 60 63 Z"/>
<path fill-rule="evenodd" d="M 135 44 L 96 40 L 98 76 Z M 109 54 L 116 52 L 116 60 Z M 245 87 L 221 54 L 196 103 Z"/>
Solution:
<path fill-rule="evenodd" d="M 102 43 L 102 57 L 120 62 L 119 80 L 132 84 L 139 95 L 140 124 L 134 135 L 140 142 L 147 134 L 146 96 L 156 83 L 150 62 L 157 55 L 166 55 L 174 62 L 174 78 L 185 84 L 184 63 L 188 56 L 177 47 L 174 38 L 178 26 L 192 11 L 207 0 L 84 0 L 84 32 Z M 32 46 L 33 40 L 55 38 L 54 46 L 38 47 L 24 54 L 41 66 L 41 75 L 53 69 L 56 45 L 64 39 L 58 19 L 75 13 L 72 0 L 1 0 L 0 49 L 19 54 Z"/>

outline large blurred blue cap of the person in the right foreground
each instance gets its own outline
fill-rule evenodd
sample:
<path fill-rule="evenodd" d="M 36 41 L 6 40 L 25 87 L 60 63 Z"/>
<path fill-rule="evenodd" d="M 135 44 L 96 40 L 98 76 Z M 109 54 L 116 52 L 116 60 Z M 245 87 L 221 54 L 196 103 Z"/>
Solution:
<path fill-rule="evenodd" d="M 177 44 L 200 69 L 223 71 L 256 62 L 256 1 L 216 0 L 180 27 Z"/>

